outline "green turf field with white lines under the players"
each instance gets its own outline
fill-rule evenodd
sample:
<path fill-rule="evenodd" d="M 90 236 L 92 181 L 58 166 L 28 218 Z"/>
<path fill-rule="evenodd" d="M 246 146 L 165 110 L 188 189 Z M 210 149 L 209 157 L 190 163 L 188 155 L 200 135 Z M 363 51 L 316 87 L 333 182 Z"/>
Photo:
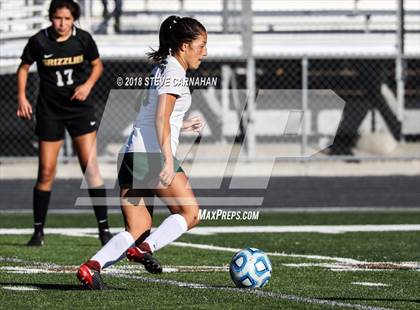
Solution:
<path fill-rule="evenodd" d="M 156 214 L 155 224 L 164 216 Z M 47 235 L 44 247 L 27 248 L 29 235 L 7 234 L 30 228 L 31 221 L 29 214 L 0 214 L 0 308 L 420 308 L 418 230 L 186 234 L 156 253 L 164 274 L 123 260 L 103 274 L 110 289 L 98 292 L 84 290 L 75 277 L 77 266 L 99 249 L 96 236 Z M 122 227 L 122 217 L 112 214 L 110 223 Z M 201 227 L 362 224 L 419 225 L 420 215 L 261 212 L 258 220 L 203 221 Z M 89 214 L 50 214 L 47 227 L 94 228 L 95 222 Z M 264 289 L 235 289 L 230 280 L 230 259 L 247 246 L 269 253 L 273 275 Z"/>

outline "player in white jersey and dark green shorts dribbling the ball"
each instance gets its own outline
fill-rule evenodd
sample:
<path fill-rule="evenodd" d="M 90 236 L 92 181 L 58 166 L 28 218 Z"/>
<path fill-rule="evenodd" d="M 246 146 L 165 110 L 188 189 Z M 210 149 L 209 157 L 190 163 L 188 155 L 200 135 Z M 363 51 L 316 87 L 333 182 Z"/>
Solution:
<path fill-rule="evenodd" d="M 80 266 L 77 277 L 90 289 L 104 288 L 101 269 L 125 255 L 149 272 L 161 273 L 162 267 L 152 254 L 199 222 L 197 200 L 174 155 L 180 131 L 199 132 L 204 125 L 199 117 L 183 119 L 191 105 L 186 70 L 200 66 L 207 56 L 206 43 L 206 29 L 193 18 L 170 16 L 160 27 L 159 49 L 149 54 L 157 64 L 152 71 L 154 82 L 118 161 L 126 229 Z M 150 192 L 163 200 L 172 214 L 138 244 L 135 241 L 152 225 L 150 206 L 144 198 Z"/>

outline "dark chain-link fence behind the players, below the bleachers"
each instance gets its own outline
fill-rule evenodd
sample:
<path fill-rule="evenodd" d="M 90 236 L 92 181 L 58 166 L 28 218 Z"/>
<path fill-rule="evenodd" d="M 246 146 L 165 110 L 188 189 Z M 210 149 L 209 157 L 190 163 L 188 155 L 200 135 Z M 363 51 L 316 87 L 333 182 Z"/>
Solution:
<path fill-rule="evenodd" d="M 144 60 L 106 60 L 104 59 L 105 70 L 102 78 L 97 83 L 91 96 L 97 109 L 97 116 L 101 118 L 104 108 L 109 98 L 111 89 L 118 89 L 121 94 L 127 91 L 127 96 L 138 100 L 137 96 L 142 87 L 126 86 L 118 87 L 116 80 L 123 77 L 129 81 L 130 78 L 146 78 L 152 66 Z M 256 141 L 257 145 L 266 145 L 282 142 L 294 141 L 301 143 L 302 134 L 299 137 L 291 138 L 276 130 L 271 130 L 276 126 L 276 120 L 270 119 L 272 113 L 285 108 L 299 110 L 301 104 L 303 79 L 302 59 L 257 59 L 257 100 L 256 100 Z M 241 122 L 243 110 L 246 109 L 246 93 L 239 95 L 235 91 L 246 88 L 245 63 L 242 61 L 227 62 L 223 60 L 210 60 L 204 62 L 197 72 L 193 73 L 196 77 L 214 77 L 216 85 L 213 87 L 202 86 L 193 90 L 196 92 L 195 101 L 192 107 L 192 114 L 201 114 L 207 124 L 205 135 L 207 143 L 221 143 L 225 140 L 241 143 L 244 141 L 245 128 Z M 410 144 L 416 145 L 419 140 L 418 113 L 420 110 L 420 61 L 418 59 L 406 60 L 406 87 L 405 87 L 405 114 L 402 124 L 399 122 L 395 112 L 395 59 L 372 59 L 372 58 L 345 58 L 330 59 L 318 58 L 307 59 L 307 85 L 309 90 L 331 90 L 345 102 L 342 115 L 340 111 L 330 106 L 328 100 L 311 100 L 309 97 L 309 108 L 311 110 L 311 122 L 308 129 L 308 139 L 318 141 L 319 147 L 326 147 L 322 142 L 323 138 L 334 138 L 333 144 L 326 150 L 329 155 L 360 155 L 363 147 L 360 148 L 358 142 L 361 137 L 367 136 L 371 139 L 389 139 L 396 145 L 392 149 L 378 149 L 372 151 L 368 148 L 365 153 L 374 156 L 396 157 L 415 157 L 415 148 Z M 226 73 L 228 72 L 228 73 Z M 6 74 L 0 77 L 1 81 L 1 134 L 0 144 L 2 157 L 13 156 L 36 156 L 37 143 L 34 136 L 34 121 L 23 121 L 16 117 L 16 83 L 14 74 Z M 222 86 L 229 87 L 228 93 L 228 112 L 234 114 L 232 118 L 223 118 Z M 33 104 L 36 103 L 38 93 L 38 76 L 31 73 L 28 79 L 27 94 L 28 99 Z M 271 91 L 270 98 L 267 98 L 267 90 Z M 265 91 L 265 93 L 263 92 Z M 264 97 L 265 94 L 265 97 Z M 280 98 L 281 100 L 280 100 Z M 264 99 L 265 98 L 265 99 Z M 125 100 L 124 95 L 120 95 L 118 100 Z M 296 104 L 283 104 L 284 102 L 296 101 Z M 268 111 L 268 114 L 261 114 L 261 111 Z M 271 113 L 271 114 L 270 114 Z M 334 114 L 335 113 L 335 114 Z M 337 114 L 338 113 L 338 114 Z M 115 126 L 124 124 L 124 112 L 116 111 L 113 115 L 112 123 Z M 341 119 L 338 128 L 327 126 L 330 122 Z M 280 120 L 279 120 L 280 121 Z M 287 121 L 287 120 L 286 120 Z M 225 122 L 225 124 L 223 124 Z M 271 122 L 271 123 L 270 123 Z M 278 124 L 277 124 L 278 125 Z M 124 124 L 128 128 L 129 124 Z M 235 130 L 235 127 L 238 127 Z M 109 143 L 118 143 L 124 140 L 123 132 L 127 133 L 126 128 L 115 128 L 109 131 L 107 139 Z M 226 128 L 233 128 L 228 129 Z M 273 133 L 274 132 L 274 133 Z M 118 133 L 118 134 L 116 134 Z M 377 133 L 372 135 L 372 133 Z M 371 136 L 369 136 L 369 134 Z M 382 136 L 381 136 L 382 135 Z M 188 137 L 185 138 L 188 141 Z M 387 140 L 388 139 L 388 140 Z M 405 143 L 402 143 L 405 141 Z M 374 141 L 373 141 L 374 142 Z M 106 145 L 107 143 L 105 143 Z M 393 145 L 393 144 L 392 144 Z M 408 147 L 407 147 L 408 145 Z M 406 148 L 401 150 L 398 148 Z M 359 148 L 358 148 L 359 147 Z M 360 151 L 360 152 L 358 152 Z M 106 155 L 105 149 L 99 150 L 99 155 Z M 365 154 L 365 155 L 366 155 Z M 68 153 L 71 156 L 72 154 Z"/>

